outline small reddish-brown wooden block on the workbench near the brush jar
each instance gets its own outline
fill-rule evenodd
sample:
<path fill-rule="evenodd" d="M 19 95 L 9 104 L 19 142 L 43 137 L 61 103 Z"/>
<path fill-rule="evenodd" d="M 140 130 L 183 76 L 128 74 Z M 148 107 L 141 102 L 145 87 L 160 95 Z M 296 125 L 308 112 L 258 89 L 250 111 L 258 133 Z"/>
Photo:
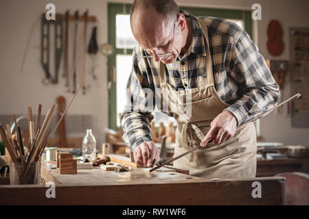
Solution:
<path fill-rule="evenodd" d="M 61 152 L 57 154 L 57 172 L 59 174 L 77 174 L 77 161 L 73 154 Z"/>

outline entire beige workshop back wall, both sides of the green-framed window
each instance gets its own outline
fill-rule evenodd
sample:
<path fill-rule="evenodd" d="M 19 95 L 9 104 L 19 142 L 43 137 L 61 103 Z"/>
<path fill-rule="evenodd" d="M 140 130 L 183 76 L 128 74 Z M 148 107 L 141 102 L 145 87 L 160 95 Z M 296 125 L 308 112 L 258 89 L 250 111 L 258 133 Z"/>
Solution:
<path fill-rule="evenodd" d="M 1 0 L 0 1 L 0 114 L 25 114 L 27 106 L 43 104 L 43 113 L 56 102 L 56 96 L 65 94 L 67 100 L 72 94 L 66 92 L 65 80 L 58 85 L 45 86 L 41 83 L 44 77 L 40 63 L 40 21 L 38 17 L 45 11 L 47 3 L 56 5 L 56 12 L 64 13 L 87 8 L 89 14 L 98 18 L 98 44 L 107 42 L 107 3 L 133 1 L 118 0 Z M 176 0 L 179 5 L 192 7 L 213 7 L 230 9 L 250 9 L 253 3 L 262 5 L 262 20 L 255 22 L 254 40 L 258 43 L 260 52 L 266 59 L 289 60 L 289 27 L 308 27 L 309 1 L 307 0 Z M 283 28 L 284 52 L 278 57 L 270 55 L 266 49 L 267 26 L 271 19 L 278 20 Z M 38 20 L 38 21 L 36 21 Z M 34 25 L 34 22 L 36 24 Z M 33 31 L 32 26 L 34 25 Z M 32 32 L 31 32 L 32 31 Z M 25 57 L 25 64 L 21 70 L 23 55 L 27 47 L 27 40 L 32 34 L 29 49 Z M 104 129 L 108 126 L 108 95 L 106 77 L 106 57 L 98 55 L 96 73 L 98 80 L 92 84 L 86 95 L 78 94 L 68 112 L 69 115 L 92 115 L 93 129 L 99 142 L 104 141 Z M 284 99 L 291 95 L 290 75 L 286 76 Z M 285 112 L 285 110 L 284 110 Z M 309 142 L 309 129 L 291 127 L 290 117 L 285 113 L 271 113 L 261 120 L 261 136 L 267 142 L 283 142 L 284 144 L 304 144 Z"/>

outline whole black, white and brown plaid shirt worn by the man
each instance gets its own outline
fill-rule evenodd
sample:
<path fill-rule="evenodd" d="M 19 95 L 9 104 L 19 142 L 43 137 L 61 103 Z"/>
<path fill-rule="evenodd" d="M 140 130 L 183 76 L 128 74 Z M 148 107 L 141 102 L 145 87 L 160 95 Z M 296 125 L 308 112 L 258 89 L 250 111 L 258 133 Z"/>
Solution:
<path fill-rule="evenodd" d="M 193 40 L 184 55 L 166 64 L 166 81 L 175 90 L 190 89 L 205 84 L 205 38 L 196 18 L 191 18 Z M 201 17 L 208 28 L 214 83 L 220 99 L 230 104 L 227 109 L 238 120 L 238 125 L 277 104 L 279 86 L 266 66 L 264 57 L 246 31 L 225 19 Z M 135 151 L 142 142 L 152 141 L 151 114 L 146 107 L 143 88 L 154 93 L 160 88 L 159 62 L 145 58 L 146 51 L 139 45 L 133 51 L 133 70 L 127 83 L 126 109 L 122 113 L 123 139 Z"/>

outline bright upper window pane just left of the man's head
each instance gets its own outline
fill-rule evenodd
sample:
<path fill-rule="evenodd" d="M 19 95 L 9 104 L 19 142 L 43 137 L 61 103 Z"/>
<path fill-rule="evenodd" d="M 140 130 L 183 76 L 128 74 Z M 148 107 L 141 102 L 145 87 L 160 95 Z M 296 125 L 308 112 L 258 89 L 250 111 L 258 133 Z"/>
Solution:
<path fill-rule="evenodd" d="M 135 40 L 131 27 L 129 14 L 116 15 L 116 47 L 118 49 L 134 49 Z"/>

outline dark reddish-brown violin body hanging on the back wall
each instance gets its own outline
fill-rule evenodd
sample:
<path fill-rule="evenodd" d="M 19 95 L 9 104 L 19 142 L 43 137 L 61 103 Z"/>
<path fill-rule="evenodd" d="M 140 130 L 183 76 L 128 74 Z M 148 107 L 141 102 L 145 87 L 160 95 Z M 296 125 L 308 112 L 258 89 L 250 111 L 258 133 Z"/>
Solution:
<path fill-rule="evenodd" d="M 279 21 L 272 20 L 267 28 L 267 49 L 271 55 L 281 55 L 284 50 L 284 42 L 282 41 L 282 27 Z"/>

